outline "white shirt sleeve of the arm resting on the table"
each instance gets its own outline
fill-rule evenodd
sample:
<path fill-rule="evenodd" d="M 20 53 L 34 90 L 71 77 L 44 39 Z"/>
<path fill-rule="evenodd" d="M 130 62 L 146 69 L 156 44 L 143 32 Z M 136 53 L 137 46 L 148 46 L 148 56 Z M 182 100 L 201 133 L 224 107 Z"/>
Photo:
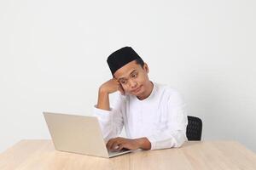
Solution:
<path fill-rule="evenodd" d="M 173 93 L 167 100 L 166 108 L 166 126 L 147 137 L 151 143 L 151 150 L 180 147 L 188 140 L 186 136 L 188 118 L 181 95 L 177 92 Z"/>

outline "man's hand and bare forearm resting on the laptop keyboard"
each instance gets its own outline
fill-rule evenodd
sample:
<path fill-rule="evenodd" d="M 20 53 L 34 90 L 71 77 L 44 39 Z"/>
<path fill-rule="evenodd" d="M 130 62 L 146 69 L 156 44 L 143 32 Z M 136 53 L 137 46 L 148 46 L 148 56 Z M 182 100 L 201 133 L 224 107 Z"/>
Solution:
<path fill-rule="evenodd" d="M 118 137 L 114 139 L 109 139 L 107 143 L 107 148 L 110 151 L 119 151 L 122 150 L 123 148 L 128 150 L 150 150 L 151 143 L 148 141 L 147 138 L 125 139 Z"/>

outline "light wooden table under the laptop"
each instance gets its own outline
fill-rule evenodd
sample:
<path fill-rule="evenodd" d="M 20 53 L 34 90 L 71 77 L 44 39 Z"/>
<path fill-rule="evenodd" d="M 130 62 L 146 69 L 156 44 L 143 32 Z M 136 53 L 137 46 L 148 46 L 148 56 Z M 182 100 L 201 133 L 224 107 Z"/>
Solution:
<path fill-rule="evenodd" d="M 51 140 L 21 140 L 0 154 L 0 169 L 256 169 L 256 154 L 235 141 L 187 142 L 178 149 L 138 150 L 113 158 L 57 151 Z"/>

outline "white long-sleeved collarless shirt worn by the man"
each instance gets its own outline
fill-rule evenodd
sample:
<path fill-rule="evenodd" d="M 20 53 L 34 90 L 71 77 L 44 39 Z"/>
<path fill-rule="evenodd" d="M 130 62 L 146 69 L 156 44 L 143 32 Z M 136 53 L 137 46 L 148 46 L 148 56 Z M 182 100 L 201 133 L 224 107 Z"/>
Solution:
<path fill-rule="evenodd" d="M 153 83 L 147 99 L 119 93 L 110 111 L 95 105 L 93 114 L 106 141 L 118 137 L 124 126 L 129 139 L 148 138 L 151 150 L 180 147 L 187 140 L 188 118 L 182 97 L 173 88 Z"/>

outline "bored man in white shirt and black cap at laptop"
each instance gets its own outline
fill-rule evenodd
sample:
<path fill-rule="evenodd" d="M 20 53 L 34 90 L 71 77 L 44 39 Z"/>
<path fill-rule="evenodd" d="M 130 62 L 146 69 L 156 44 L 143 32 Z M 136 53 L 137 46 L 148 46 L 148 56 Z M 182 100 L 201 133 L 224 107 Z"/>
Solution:
<path fill-rule="evenodd" d="M 177 91 L 151 82 L 148 65 L 131 47 L 113 52 L 107 62 L 113 78 L 99 88 L 94 116 L 108 150 L 180 147 L 187 140 L 188 120 Z M 117 91 L 111 107 L 109 94 Z M 117 137 L 123 127 L 128 139 Z"/>

